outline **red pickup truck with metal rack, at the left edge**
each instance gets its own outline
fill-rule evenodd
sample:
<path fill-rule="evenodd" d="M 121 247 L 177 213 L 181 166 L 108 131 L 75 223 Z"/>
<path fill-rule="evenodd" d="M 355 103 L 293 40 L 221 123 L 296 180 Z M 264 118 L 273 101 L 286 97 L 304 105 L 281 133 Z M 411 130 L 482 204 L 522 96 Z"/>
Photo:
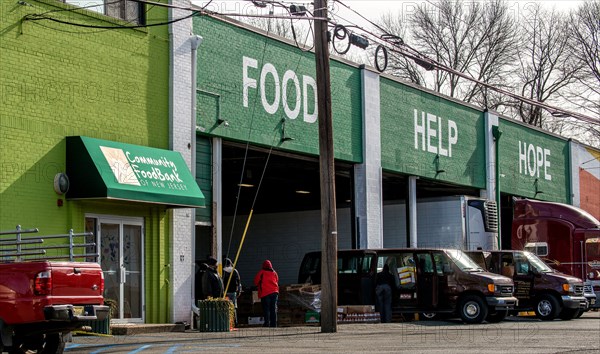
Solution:
<path fill-rule="evenodd" d="M 94 259 L 95 255 L 74 255 L 73 250 L 89 249 L 91 244 L 73 244 L 68 236 L 68 255 L 48 255 L 28 245 L 42 238 L 22 238 L 37 229 L 0 232 L 0 352 L 62 353 L 71 331 L 90 320 L 104 320 L 109 307 L 103 305 L 104 276 L 96 262 L 76 262 L 74 258 Z M 16 235 L 5 239 L 4 235 Z M 82 235 L 82 234 L 79 234 Z M 40 242 L 41 240 L 41 242 Z M 48 247 L 53 252 L 60 246 Z M 31 259 L 36 257 L 36 259 Z M 61 258 L 70 259 L 59 261 Z"/>

